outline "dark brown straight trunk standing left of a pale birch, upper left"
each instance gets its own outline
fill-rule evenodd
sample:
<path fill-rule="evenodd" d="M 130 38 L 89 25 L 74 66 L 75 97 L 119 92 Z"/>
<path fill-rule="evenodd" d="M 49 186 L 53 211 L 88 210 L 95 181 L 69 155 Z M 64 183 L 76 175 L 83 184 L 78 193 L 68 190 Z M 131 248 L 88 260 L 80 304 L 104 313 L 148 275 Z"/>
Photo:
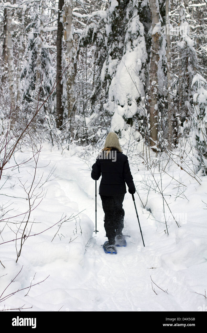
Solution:
<path fill-rule="evenodd" d="M 62 7 L 64 0 L 58 1 L 58 21 L 57 21 L 57 86 L 56 86 L 56 126 L 61 128 L 63 120 L 63 106 L 62 106 L 62 37 L 63 37 L 63 24 L 62 24 Z"/>

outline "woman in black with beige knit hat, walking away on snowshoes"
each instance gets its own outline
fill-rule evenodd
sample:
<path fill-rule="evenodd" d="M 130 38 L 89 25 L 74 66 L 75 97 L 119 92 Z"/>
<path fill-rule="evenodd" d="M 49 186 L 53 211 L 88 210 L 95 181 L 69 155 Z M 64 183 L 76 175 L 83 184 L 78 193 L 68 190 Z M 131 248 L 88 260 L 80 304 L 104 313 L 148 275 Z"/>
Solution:
<path fill-rule="evenodd" d="M 109 133 L 102 153 L 92 166 L 91 177 L 101 178 L 99 194 L 105 213 L 104 228 L 108 241 L 104 243 L 105 252 L 116 253 L 115 244 L 123 246 L 126 241 L 122 235 L 124 227 L 124 209 L 122 203 L 126 191 L 135 193 L 135 185 L 130 171 L 128 158 L 122 153 L 116 133 Z M 115 238 L 116 237 L 116 238 Z"/>

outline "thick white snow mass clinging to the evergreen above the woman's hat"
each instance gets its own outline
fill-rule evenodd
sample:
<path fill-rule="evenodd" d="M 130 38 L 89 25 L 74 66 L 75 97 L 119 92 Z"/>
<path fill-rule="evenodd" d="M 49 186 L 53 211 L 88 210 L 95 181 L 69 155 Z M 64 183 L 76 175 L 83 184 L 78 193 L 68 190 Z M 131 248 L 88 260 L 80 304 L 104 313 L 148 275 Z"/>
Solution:
<path fill-rule="evenodd" d="M 145 95 L 142 82 L 142 66 L 146 62 L 147 52 L 144 38 L 144 26 L 140 22 L 139 15 L 132 18 L 126 35 L 124 55 L 118 62 L 109 58 L 108 72 L 112 77 L 109 87 L 109 101 L 104 108 L 113 115 L 110 132 L 120 131 L 121 137 L 129 133 L 135 133 L 135 127 L 126 124 L 125 119 L 132 118 L 136 113 L 144 115 L 142 98 Z M 133 36 L 133 38 L 132 38 Z M 133 40 L 133 42 L 132 42 Z M 113 77 L 113 73 L 116 74 Z M 101 78 L 104 78 L 106 64 L 103 66 Z M 136 101 L 140 100 L 139 103 Z"/>

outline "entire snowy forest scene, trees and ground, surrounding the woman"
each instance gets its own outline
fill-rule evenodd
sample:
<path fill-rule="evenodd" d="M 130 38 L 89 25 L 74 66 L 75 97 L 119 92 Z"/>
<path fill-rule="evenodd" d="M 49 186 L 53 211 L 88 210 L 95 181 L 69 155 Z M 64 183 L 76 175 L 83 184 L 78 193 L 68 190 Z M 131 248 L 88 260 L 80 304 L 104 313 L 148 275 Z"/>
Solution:
<path fill-rule="evenodd" d="M 0 311 L 207 311 L 206 13 L 206 0 L 0 2 Z M 110 132 L 145 240 L 127 192 L 116 256 L 98 194 L 94 232 L 91 178 Z"/>

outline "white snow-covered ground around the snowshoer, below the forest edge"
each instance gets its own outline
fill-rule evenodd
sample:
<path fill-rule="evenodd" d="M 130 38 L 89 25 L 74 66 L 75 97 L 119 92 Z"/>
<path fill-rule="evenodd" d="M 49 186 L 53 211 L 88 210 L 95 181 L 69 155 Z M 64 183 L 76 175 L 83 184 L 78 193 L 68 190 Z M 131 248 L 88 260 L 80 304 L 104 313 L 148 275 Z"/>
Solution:
<path fill-rule="evenodd" d="M 152 188 L 155 185 L 154 179 L 143 164 L 140 166 L 135 162 L 131 163 L 135 184 L 144 205 L 147 200 L 147 205 L 143 208 L 139 196 L 135 194 L 145 247 L 132 196 L 127 192 L 123 204 L 124 233 L 131 237 L 127 237 L 127 247 L 118 248 L 117 255 L 105 254 L 101 246 L 106 238 L 99 195 L 99 232 L 94 233 L 95 181 L 91 179 L 90 173 L 95 156 L 86 161 L 74 153 L 75 150 L 64 150 L 61 155 L 61 150 L 51 150 L 49 145 L 43 145 L 36 180 L 38 177 L 40 180 L 44 171 L 41 179 L 44 182 L 52 167 L 55 166 L 56 169 L 53 168 L 52 176 L 43 185 L 42 201 L 32 211 L 29 219 L 35 222 L 30 235 L 39 234 L 25 240 L 17 263 L 15 241 L 0 245 L 0 260 L 5 266 L 4 268 L 0 264 L 0 295 L 3 293 L 0 297 L 3 299 L 0 310 L 4 307 L 16 309 L 24 304 L 24 308 L 28 309 L 22 311 L 207 309 L 207 300 L 203 296 L 207 288 L 207 177 L 202 177 L 199 185 L 178 168 L 173 173 L 172 169 L 167 170 L 168 174 L 183 184 L 178 186 L 175 179 L 163 174 L 165 198 L 180 225 L 178 228 L 165 205 L 169 232 L 167 235 L 162 196 Z M 16 161 L 20 162 L 28 156 L 29 153 L 19 153 Z M 10 216 L 27 211 L 28 200 L 21 183 L 25 184 L 27 181 L 25 187 L 31 185 L 34 170 L 32 162 L 21 166 L 19 170 L 5 170 L 2 185 L 6 179 L 7 181 L 0 193 L 11 197 L 1 195 L 1 205 L 5 211 L 14 208 L 5 215 L 7 220 Z M 160 179 L 158 170 L 156 177 Z M 99 182 L 100 180 L 97 183 Z M 148 198 L 147 184 L 151 184 Z M 35 191 L 41 192 L 39 187 L 40 184 Z M 41 198 L 37 199 L 35 205 L 38 200 Z M 67 218 L 71 217 L 60 226 L 57 222 L 65 215 Z M 4 229 L 5 222 L 1 222 L 0 243 L 16 238 L 16 225 L 10 222 L 21 221 L 21 218 L 22 216 L 9 219 Z M 55 223 L 57 224 L 54 225 Z M 50 228 L 52 225 L 54 226 Z M 44 230 L 46 231 L 40 233 Z M 19 244 L 20 241 L 17 241 L 18 251 Z M 17 274 L 14 282 L 8 286 Z M 24 289 L 7 299 L 3 298 L 44 279 L 44 282 L 32 286 L 30 290 Z"/>

